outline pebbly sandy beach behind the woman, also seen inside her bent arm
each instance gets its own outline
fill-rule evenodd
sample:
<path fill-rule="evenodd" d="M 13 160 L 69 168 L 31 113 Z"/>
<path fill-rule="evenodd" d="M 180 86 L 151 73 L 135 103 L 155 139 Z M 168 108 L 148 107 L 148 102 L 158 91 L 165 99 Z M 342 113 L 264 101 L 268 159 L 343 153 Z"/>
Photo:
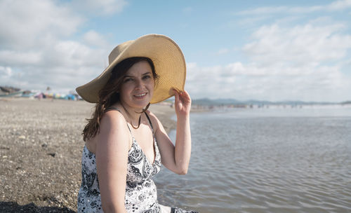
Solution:
<path fill-rule="evenodd" d="M 59 99 L 0 99 L 0 212 L 76 212 L 81 131 L 93 104 Z M 150 110 L 166 130 L 174 109 Z"/>

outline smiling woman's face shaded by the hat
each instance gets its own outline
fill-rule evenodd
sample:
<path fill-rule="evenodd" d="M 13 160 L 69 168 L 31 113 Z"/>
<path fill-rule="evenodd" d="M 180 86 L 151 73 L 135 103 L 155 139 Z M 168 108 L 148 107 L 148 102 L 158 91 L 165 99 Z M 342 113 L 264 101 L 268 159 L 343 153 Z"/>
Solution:
<path fill-rule="evenodd" d="M 154 92 L 154 77 L 146 61 L 135 63 L 123 78 L 120 98 L 124 107 L 143 109 L 151 102 Z"/>

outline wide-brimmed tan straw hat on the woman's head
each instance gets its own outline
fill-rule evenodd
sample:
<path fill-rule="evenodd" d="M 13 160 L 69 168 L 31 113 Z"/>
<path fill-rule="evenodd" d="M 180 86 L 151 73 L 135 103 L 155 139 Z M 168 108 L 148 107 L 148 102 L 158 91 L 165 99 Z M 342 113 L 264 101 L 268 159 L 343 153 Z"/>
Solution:
<path fill-rule="evenodd" d="M 152 104 L 173 96 L 173 89 L 184 90 L 186 64 L 182 50 L 167 36 L 148 34 L 114 48 L 109 55 L 109 66 L 100 76 L 76 88 L 78 94 L 87 102 L 99 102 L 99 91 L 110 78 L 112 69 L 128 57 L 149 57 L 154 62 L 158 78 L 154 84 Z"/>

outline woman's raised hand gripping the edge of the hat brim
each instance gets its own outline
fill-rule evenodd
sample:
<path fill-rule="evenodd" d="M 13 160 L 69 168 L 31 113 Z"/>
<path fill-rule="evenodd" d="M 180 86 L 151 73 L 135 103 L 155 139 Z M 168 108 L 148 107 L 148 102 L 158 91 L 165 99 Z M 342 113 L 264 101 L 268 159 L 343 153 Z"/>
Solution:
<path fill-rule="evenodd" d="M 192 99 L 190 98 L 189 93 L 187 91 L 174 90 L 176 100 L 174 102 L 174 106 L 176 109 L 177 117 L 179 116 L 189 116 L 190 108 L 192 107 Z"/>

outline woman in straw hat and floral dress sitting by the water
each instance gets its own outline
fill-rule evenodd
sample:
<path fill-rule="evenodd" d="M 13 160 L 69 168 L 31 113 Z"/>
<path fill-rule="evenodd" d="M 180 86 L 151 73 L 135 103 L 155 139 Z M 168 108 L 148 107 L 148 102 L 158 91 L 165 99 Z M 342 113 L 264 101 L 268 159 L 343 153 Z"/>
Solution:
<path fill-rule="evenodd" d="M 190 95 L 184 90 L 185 60 L 174 41 L 150 34 L 121 43 L 110 65 L 77 88 L 95 102 L 83 135 L 78 212 L 187 212 L 159 205 L 152 181 L 161 163 L 186 174 L 190 161 Z M 175 95 L 176 146 L 150 103 Z"/>

